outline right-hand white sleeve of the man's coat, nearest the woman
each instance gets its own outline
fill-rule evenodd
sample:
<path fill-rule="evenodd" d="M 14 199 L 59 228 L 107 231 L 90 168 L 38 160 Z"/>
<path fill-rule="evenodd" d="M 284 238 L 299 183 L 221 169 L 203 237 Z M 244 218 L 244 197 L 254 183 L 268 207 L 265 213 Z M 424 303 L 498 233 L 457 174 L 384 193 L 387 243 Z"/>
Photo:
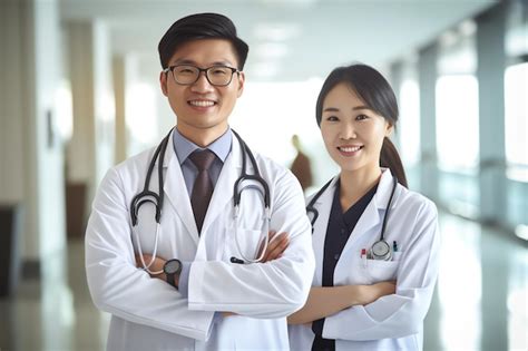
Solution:
<path fill-rule="evenodd" d="M 282 257 L 254 264 L 193 262 L 189 309 L 272 319 L 290 315 L 304 305 L 315 260 L 303 193 L 290 172 L 273 184 L 273 191 L 271 228 L 290 235 Z"/>

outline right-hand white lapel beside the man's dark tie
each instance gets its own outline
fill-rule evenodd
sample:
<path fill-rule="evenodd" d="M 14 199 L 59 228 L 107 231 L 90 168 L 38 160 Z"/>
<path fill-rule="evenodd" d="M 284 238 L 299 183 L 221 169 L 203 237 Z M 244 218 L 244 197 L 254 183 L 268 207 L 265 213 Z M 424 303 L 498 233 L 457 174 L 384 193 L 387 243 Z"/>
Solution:
<path fill-rule="evenodd" d="M 209 226 L 218 215 L 226 215 L 226 203 L 233 202 L 233 187 L 242 169 L 242 150 L 236 137 L 233 135 L 232 150 L 227 156 L 222 172 L 216 182 L 213 196 L 205 214 L 202 233 L 207 233 Z"/>

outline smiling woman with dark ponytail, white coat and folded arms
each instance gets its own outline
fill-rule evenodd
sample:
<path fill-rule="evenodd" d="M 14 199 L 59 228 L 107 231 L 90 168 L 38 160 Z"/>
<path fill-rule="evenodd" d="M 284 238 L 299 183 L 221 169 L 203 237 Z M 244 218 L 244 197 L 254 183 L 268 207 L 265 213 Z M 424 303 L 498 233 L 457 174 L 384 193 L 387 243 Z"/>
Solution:
<path fill-rule="evenodd" d="M 291 348 L 421 350 L 438 273 L 437 208 L 407 188 L 388 138 L 394 94 L 369 66 L 340 67 L 323 84 L 316 119 L 341 172 L 309 198 L 316 270 L 305 306 L 289 318 Z"/>

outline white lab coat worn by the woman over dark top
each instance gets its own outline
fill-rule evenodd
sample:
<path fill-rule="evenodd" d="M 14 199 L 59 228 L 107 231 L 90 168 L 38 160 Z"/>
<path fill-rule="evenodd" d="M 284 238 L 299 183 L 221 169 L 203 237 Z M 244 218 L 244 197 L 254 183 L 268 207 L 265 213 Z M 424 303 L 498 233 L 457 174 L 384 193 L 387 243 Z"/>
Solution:
<path fill-rule="evenodd" d="M 338 177 L 315 202 L 313 286 L 322 285 L 324 238 Z M 346 242 L 334 271 L 334 285 L 372 284 L 397 280 L 395 294 L 356 305 L 325 319 L 323 338 L 335 339 L 336 350 L 421 350 L 423 319 L 429 309 L 439 266 L 438 214 L 434 204 L 398 184 L 385 227 L 385 240 L 399 251 L 390 262 L 361 259 L 380 240 L 383 215 L 392 191 L 392 175 L 383 170 L 377 194 Z M 310 350 L 310 325 L 290 325 L 292 350 Z"/>

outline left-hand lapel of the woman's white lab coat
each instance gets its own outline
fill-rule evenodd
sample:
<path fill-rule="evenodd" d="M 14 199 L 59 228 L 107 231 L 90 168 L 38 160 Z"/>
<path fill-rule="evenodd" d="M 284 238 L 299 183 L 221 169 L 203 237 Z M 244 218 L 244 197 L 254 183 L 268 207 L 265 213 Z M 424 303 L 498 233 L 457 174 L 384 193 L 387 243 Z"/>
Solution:
<path fill-rule="evenodd" d="M 314 231 L 312 236 L 312 245 L 315 254 L 315 276 L 314 285 L 322 284 L 323 275 L 323 256 L 324 256 L 324 240 L 326 237 L 326 227 L 329 225 L 330 209 L 332 208 L 333 194 L 335 192 L 335 183 L 339 177 L 332 179 L 330 186 L 314 203 L 315 209 L 319 211 L 317 221 L 314 224 Z"/>

